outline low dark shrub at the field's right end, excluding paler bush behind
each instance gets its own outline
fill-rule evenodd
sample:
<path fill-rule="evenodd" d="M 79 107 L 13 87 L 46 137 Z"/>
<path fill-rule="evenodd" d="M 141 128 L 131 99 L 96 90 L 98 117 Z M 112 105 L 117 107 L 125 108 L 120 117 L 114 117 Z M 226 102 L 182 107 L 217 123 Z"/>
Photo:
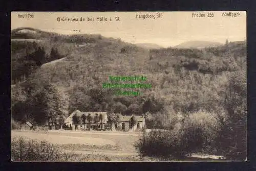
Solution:
<path fill-rule="evenodd" d="M 192 144 L 192 145 L 191 145 Z M 136 149 L 142 156 L 171 159 L 196 152 L 202 144 L 202 131 L 199 128 L 189 127 L 175 131 L 154 129 L 143 131 Z"/>

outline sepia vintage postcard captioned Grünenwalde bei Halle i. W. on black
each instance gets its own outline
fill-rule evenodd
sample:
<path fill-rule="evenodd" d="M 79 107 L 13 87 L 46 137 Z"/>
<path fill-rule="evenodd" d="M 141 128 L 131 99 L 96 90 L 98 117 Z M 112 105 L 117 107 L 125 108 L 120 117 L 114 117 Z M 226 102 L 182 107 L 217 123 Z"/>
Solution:
<path fill-rule="evenodd" d="M 12 161 L 246 161 L 246 11 L 12 12 Z"/>

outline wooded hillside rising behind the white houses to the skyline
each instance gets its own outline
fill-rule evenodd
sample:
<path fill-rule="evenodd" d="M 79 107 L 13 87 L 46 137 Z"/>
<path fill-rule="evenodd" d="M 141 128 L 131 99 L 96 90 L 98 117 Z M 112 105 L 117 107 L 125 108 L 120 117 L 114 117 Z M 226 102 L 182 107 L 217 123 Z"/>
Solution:
<path fill-rule="evenodd" d="M 16 104 L 27 101 L 38 108 L 35 96 L 41 91 L 50 91 L 45 86 L 51 86 L 65 94 L 62 95 L 65 98 L 61 97 L 65 116 L 79 109 L 123 114 L 150 111 L 153 115 L 161 113 L 171 118 L 177 113 L 212 112 L 220 108 L 218 104 L 224 100 L 228 77 L 238 72 L 246 78 L 245 42 L 202 50 L 161 48 L 148 51 L 100 35 L 66 36 L 34 30 L 35 33 L 22 33 L 20 37 L 17 30 L 12 31 L 12 38 L 41 41 L 12 41 L 14 109 Z M 60 58 L 63 59 L 51 62 Z M 143 75 L 152 89 L 139 89 L 143 92 L 141 96 L 114 96 L 112 90 L 102 89 L 102 83 L 109 82 L 109 75 Z M 16 115 L 23 114 L 13 114 Z"/>

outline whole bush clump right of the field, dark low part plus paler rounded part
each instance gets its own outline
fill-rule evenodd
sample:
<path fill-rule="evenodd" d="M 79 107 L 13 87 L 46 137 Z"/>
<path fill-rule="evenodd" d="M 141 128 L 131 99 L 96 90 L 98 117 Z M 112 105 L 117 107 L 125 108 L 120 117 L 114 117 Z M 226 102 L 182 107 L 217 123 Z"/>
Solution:
<path fill-rule="evenodd" d="M 177 123 L 175 119 L 177 118 L 172 118 Z M 149 120 L 153 119 L 149 118 Z M 173 123 L 173 125 L 175 124 Z M 178 127 L 176 124 L 175 128 L 171 129 L 172 131 L 161 129 L 152 129 L 150 132 L 143 131 L 135 146 L 142 156 L 165 159 L 179 158 L 197 152 L 208 153 L 216 147 L 214 144 L 218 135 L 216 128 L 216 118 L 199 111 L 186 117 L 182 126 Z"/>

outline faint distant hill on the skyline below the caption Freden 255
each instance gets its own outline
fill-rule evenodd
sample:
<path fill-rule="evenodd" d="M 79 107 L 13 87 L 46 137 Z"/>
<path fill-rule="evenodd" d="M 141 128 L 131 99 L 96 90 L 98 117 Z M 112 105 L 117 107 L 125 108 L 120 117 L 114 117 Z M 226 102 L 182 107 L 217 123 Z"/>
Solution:
<path fill-rule="evenodd" d="M 204 48 L 204 47 L 216 47 L 223 45 L 220 42 L 214 41 L 186 41 L 176 45 L 175 48 Z"/>

